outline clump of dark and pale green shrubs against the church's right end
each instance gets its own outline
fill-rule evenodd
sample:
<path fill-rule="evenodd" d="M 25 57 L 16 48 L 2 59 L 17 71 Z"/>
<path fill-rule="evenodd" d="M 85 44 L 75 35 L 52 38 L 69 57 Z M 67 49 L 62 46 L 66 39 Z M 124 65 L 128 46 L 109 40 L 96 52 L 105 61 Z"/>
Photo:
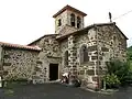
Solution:
<path fill-rule="evenodd" d="M 129 62 L 111 61 L 107 63 L 107 86 L 128 85 L 132 82 L 132 72 Z"/>

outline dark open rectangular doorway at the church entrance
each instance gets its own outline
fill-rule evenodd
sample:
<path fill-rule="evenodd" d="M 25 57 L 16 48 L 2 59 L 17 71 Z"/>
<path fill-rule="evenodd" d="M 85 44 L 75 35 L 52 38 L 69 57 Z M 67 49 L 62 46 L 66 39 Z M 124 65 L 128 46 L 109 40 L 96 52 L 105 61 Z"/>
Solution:
<path fill-rule="evenodd" d="M 50 64 L 50 81 L 58 79 L 58 64 Z"/>

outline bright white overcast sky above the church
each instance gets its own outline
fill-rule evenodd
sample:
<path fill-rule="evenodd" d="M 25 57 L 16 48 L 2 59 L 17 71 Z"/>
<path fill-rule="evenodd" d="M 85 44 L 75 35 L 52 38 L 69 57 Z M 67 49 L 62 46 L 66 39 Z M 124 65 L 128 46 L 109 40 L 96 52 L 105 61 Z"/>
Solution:
<path fill-rule="evenodd" d="M 87 13 L 85 26 L 94 23 L 109 22 L 112 18 L 132 10 L 131 0 L 0 0 L 0 41 L 14 44 L 30 42 L 54 33 L 54 13 L 66 4 Z M 132 12 L 113 20 L 129 37 L 132 45 Z"/>

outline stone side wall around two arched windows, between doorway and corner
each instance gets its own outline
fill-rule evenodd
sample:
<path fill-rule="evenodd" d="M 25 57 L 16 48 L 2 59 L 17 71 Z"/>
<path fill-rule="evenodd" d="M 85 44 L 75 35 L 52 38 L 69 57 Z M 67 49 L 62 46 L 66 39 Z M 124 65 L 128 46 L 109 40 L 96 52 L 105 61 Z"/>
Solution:
<path fill-rule="evenodd" d="M 97 35 L 95 29 L 80 31 L 61 41 L 62 70 L 77 75 L 82 80 L 82 86 L 95 88 L 97 86 Z M 80 63 L 80 48 L 86 45 L 88 48 L 88 62 Z M 65 52 L 68 51 L 68 65 L 65 66 Z M 84 84 L 86 82 L 86 84 Z"/>

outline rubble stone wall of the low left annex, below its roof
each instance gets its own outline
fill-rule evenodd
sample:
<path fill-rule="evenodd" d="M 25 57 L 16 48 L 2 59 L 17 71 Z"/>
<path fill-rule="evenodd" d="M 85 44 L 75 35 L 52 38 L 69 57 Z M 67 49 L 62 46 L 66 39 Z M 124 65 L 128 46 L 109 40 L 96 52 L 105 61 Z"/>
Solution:
<path fill-rule="evenodd" d="M 38 52 L 3 47 L 3 79 L 32 79 Z"/>

